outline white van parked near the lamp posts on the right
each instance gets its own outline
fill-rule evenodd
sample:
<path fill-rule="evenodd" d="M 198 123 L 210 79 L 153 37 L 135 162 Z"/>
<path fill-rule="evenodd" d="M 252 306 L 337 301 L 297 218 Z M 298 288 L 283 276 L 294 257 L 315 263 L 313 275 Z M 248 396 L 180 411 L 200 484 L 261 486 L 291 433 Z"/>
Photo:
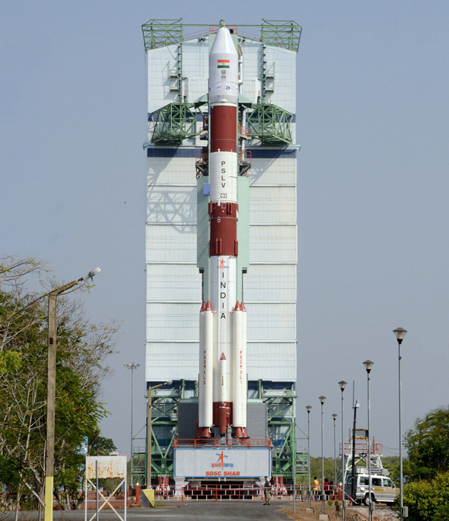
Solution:
<path fill-rule="evenodd" d="M 369 504 L 369 475 L 366 468 L 356 469 L 355 474 L 355 500 L 364 505 Z M 398 495 L 398 488 L 387 477 L 389 472 L 387 469 L 376 470 L 376 473 L 371 472 L 371 499 L 375 503 L 391 504 Z M 346 477 L 346 494 L 351 495 L 352 475 Z"/>

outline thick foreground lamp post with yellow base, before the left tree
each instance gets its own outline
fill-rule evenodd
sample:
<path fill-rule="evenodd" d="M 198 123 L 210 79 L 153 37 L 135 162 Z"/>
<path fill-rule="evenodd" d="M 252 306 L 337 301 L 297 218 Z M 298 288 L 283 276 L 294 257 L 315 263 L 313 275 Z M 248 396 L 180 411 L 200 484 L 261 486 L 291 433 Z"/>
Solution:
<path fill-rule="evenodd" d="M 55 468 L 55 408 L 56 408 L 56 348 L 58 330 L 58 296 L 73 288 L 79 282 L 85 282 L 100 273 L 100 268 L 89 271 L 84 277 L 72 280 L 53 289 L 49 293 L 49 338 L 48 338 L 48 369 L 47 369 L 47 411 L 46 411 L 46 459 L 45 459 L 45 509 L 44 520 L 53 520 L 53 482 Z"/>

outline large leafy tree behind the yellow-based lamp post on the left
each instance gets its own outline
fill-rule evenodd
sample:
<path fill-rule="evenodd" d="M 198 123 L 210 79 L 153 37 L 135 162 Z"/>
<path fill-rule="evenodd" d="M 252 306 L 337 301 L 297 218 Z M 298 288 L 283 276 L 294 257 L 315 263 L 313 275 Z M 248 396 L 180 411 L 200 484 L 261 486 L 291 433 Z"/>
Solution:
<path fill-rule="evenodd" d="M 42 291 L 26 291 L 26 284 L 46 271 L 33 259 L 0 259 L 0 481 L 17 505 L 22 495 L 44 505 L 48 311 Z M 44 297 L 48 285 L 39 286 Z M 58 299 L 55 490 L 62 503 L 78 495 L 80 447 L 98 436 L 107 414 L 98 398 L 115 332 L 114 323 L 91 324 L 79 302 Z"/>

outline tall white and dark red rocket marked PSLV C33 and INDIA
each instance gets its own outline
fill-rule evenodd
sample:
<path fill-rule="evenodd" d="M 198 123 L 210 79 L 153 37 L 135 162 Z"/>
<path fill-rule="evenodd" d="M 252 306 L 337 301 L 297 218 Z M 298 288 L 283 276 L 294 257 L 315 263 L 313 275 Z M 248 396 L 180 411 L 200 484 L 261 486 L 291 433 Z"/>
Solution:
<path fill-rule="evenodd" d="M 237 300 L 238 53 L 218 29 L 209 53 L 210 300 L 200 311 L 198 436 L 247 438 L 247 319 Z"/>

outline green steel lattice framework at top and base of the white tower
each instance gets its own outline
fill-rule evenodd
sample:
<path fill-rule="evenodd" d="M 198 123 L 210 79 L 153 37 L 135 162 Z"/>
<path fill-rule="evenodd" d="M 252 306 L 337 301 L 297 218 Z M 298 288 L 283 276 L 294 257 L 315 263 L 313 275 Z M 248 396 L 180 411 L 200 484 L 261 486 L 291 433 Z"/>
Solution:
<path fill-rule="evenodd" d="M 184 36 L 184 27 L 200 29 L 194 35 Z M 267 72 L 265 46 L 278 46 L 289 51 L 298 51 L 301 37 L 301 26 L 292 21 L 273 21 L 263 19 L 261 25 L 238 25 L 238 35 L 259 40 L 263 44 L 261 53 L 262 92 L 249 113 L 247 125 L 252 137 L 260 139 L 262 145 L 287 146 L 292 143 L 290 123 L 292 114 L 269 103 L 266 98 L 270 94 Z M 207 28 L 207 30 L 204 30 Z M 170 71 L 177 90 L 178 101 L 169 103 L 152 113 L 155 128 L 151 142 L 179 146 L 184 139 L 195 137 L 204 132 L 196 130 L 196 110 L 193 103 L 187 103 L 182 95 L 182 42 L 192 37 L 201 37 L 215 33 L 218 26 L 183 24 L 181 19 L 152 19 L 142 26 L 146 51 L 163 46 L 177 45 L 177 70 Z M 248 35 L 240 28 L 259 28 L 260 37 Z M 273 76 L 274 78 L 274 76 Z M 204 115 L 202 112 L 200 114 Z M 206 173 L 206 172 L 204 172 Z M 184 380 L 175 382 L 170 396 L 152 393 L 152 479 L 158 476 L 173 478 L 173 444 L 177 436 L 177 407 L 184 398 Z M 265 385 L 265 387 L 264 387 Z M 258 383 L 259 400 L 267 406 L 267 437 L 270 437 L 275 450 L 272 458 L 272 475 L 282 476 L 292 481 L 295 476 L 306 475 L 307 454 L 297 454 L 294 420 L 294 384 L 283 389 L 270 388 L 269 382 Z M 195 388 L 195 396 L 197 389 Z M 165 434 L 164 434 L 165 432 Z M 159 434 L 159 436 L 157 436 Z M 161 441 L 163 443 L 160 443 Z M 143 464 L 145 462 L 145 464 Z M 131 483 L 135 479 L 140 483 L 146 481 L 146 449 L 134 450 L 131 465 Z"/>

